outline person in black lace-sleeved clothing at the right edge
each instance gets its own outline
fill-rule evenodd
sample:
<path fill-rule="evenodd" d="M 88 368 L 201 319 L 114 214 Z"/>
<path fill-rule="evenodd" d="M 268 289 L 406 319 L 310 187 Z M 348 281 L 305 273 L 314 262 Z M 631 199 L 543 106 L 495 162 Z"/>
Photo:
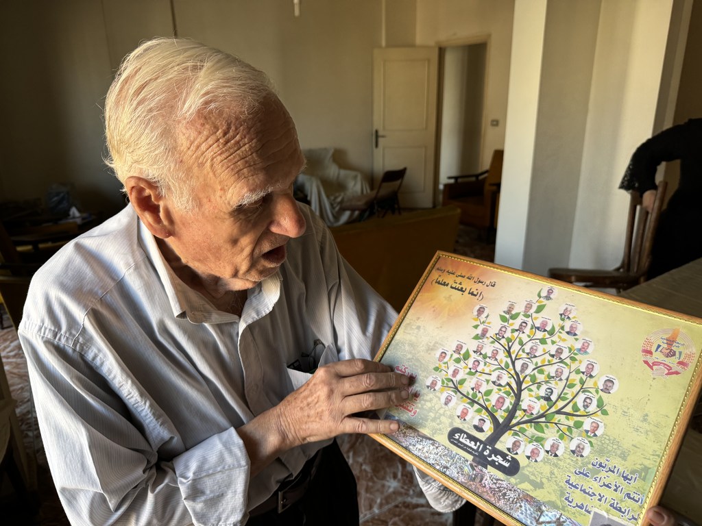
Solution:
<path fill-rule="evenodd" d="M 634 152 L 619 188 L 637 191 L 651 210 L 656 196 L 656 169 L 680 159 L 680 183 L 661 213 L 651 251 L 648 278 L 702 257 L 702 238 L 687 232 L 700 220 L 696 200 L 702 192 L 702 119 L 689 119 L 654 135 Z"/>

